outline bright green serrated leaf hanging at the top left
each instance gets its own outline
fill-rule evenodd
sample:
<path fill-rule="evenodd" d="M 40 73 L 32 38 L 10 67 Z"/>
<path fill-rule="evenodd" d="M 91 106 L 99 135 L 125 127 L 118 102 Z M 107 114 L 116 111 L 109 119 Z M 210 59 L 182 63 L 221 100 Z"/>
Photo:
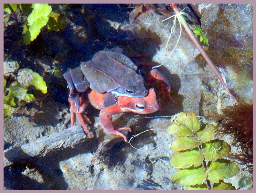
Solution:
<path fill-rule="evenodd" d="M 48 22 L 51 10 L 51 6 L 48 4 L 34 4 L 33 11 L 27 17 L 27 25 L 29 26 L 29 29 L 23 37 L 25 44 L 28 44 L 30 41 L 37 38 L 41 28 Z"/>

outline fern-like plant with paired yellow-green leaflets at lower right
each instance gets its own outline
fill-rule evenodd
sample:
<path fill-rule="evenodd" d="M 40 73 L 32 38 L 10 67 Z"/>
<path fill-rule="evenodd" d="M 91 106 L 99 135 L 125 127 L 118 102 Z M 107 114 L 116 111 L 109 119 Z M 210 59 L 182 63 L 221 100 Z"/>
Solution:
<path fill-rule="evenodd" d="M 223 179 L 234 176 L 239 168 L 223 158 L 231 147 L 223 140 L 213 139 L 214 125 L 200 126 L 195 113 L 182 112 L 175 115 L 174 123 L 167 130 L 178 135 L 171 145 L 176 152 L 169 163 L 179 169 L 172 182 L 186 185 L 187 189 L 235 189 Z"/>

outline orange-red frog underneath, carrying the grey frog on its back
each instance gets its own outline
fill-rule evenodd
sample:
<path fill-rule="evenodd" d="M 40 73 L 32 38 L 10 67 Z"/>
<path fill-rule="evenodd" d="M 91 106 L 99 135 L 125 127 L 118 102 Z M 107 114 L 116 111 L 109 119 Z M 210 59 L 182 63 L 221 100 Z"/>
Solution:
<path fill-rule="evenodd" d="M 115 129 L 112 122 L 112 115 L 124 112 L 133 112 L 138 114 L 154 113 L 159 110 L 167 96 L 173 103 L 177 104 L 177 102 L 170 95 L 170 85 L 167 84 L 165 77 L 157 69 L 151 70 L 150 75 L 148 78 L 146 78 L 146 80 L 151 88 L 149 89 L 147 96 L 140 98 L 129 96 L 115 97 L 112 93 L 97 93 L 94 90 L 89 90 L 80 93 L 80 106 L 78 108 L 72 98 L 69 97 L 71 125 L 73 126 L 77 115 L 84 131 L 88 133 L 88 136 L 91 138 L 91 133 L 89 132 L 84 121 L 87 120 L 88 123 L 91 124 L 90 119 L 84 114 L 89 101 L 94 108 L 101 110 L 99 124 L 102 126 L 102 128 L 107 133 L 112 133 L 123 137 L 124 141 L 127 142 L 126 136 L 120 131 L 131 131 L 131 129 L 126 127 Z M 158 96 L 156 96 L 154 88 L 152 88 L 153 86 L 160 88 L 160 92 L 158 93 L 158 96 L 162 95 L 160 102 L 158 101 Z"/>

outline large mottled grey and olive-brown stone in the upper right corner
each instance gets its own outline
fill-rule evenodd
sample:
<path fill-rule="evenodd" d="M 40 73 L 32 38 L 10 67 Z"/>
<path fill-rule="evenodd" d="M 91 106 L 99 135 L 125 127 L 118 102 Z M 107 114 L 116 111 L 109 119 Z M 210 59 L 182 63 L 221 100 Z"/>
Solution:
<path fill-rule="evenodd" d="M 238 100 L 252 104 L 252 4 L 199 5 L 213 62 Z"/>

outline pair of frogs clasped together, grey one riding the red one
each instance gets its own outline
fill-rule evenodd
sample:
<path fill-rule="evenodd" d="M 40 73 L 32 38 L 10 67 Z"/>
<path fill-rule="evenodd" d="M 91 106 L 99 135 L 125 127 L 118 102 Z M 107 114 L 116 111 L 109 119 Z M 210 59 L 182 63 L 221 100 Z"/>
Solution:
<path fill-rule="evenodd" d="M 131 129 L 115 129 L 112 115 L 123 112 L 154 113 L 159 110 L 167 96 L 173 103 L 177 103 L 171 97 L 168 80 L 159 70 L 152 69 L 144 81 L 137 73 L 136 65 L 119 51 L 99 51 L 92 60 L 81 62 L 80 68 L 69 69 L 63 76 L 69 88 L 71 125 L 75 123 L 77 115 L 90 138 L 91 134 L 84 121 L 86 119 L 91 124 L 84 114 L 88 100 L 92 106 L 101 110 L 100 125 L 103 129 L 107 133 L 122 136 L 125 141 L 127 138 L 120 131 Z M 144 82 L 150 89 L 144 87 Z M 160 90 L 160 105 L 153 88 Z"/>

